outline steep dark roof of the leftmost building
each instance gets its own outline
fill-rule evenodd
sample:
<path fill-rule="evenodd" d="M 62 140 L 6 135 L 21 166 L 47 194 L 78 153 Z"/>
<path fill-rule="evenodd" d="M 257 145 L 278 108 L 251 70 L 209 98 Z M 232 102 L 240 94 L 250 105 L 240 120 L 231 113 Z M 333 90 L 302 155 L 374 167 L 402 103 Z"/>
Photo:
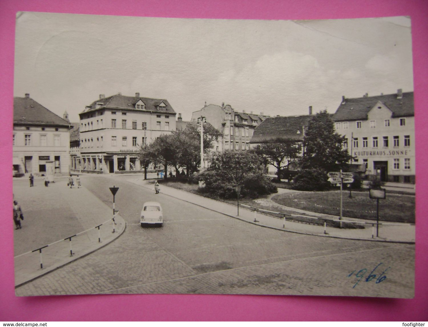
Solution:
<path fill-rule="evenodd" d="M 13 122 L 23 124 L 44 124 L 69 126 L 70 123 L 43 107 L 31 98 L 13 98 Z"/>

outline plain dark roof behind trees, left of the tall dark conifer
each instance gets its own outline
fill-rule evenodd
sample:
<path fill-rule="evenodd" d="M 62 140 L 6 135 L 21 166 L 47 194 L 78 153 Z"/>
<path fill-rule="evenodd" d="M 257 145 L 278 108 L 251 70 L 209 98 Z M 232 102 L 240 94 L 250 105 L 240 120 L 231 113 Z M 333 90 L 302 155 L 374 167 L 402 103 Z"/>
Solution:
<path fill-rule="evenodd" d="M 278 137 L 294 140 L 303 139 L 303 126 L 308 126 L 311 117 L 313 116 L 267 117 L 254 129 L 251 143 L 259 143 Z"/>

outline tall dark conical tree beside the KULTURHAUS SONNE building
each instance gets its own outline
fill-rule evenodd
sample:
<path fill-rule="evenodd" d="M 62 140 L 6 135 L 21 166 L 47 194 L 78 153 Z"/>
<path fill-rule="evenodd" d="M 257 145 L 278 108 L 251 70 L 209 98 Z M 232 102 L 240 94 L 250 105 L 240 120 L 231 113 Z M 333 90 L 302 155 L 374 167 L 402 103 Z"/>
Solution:
<path fill-rule="evenodd" d="M 321 111 L 309 120 L 303 138 L 303 156 L 300 168 L 338 171 L 345 168 L 351 156 L 343 149 L 345 137 L 334 130 L 334 123 L 327 111 Z"/>

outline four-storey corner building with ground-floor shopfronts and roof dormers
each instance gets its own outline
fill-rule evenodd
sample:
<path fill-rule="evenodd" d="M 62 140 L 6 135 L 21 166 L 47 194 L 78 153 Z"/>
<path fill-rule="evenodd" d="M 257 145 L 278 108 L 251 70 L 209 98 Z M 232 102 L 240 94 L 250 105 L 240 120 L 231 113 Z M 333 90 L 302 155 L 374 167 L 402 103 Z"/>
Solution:
<path fill-rule="evenodd" d="M 82 171 L 140 171 L 140 145 L 175 131 L 175 111 L 165 99 L 116 94 L 86 106 L 80 116 Z"/>

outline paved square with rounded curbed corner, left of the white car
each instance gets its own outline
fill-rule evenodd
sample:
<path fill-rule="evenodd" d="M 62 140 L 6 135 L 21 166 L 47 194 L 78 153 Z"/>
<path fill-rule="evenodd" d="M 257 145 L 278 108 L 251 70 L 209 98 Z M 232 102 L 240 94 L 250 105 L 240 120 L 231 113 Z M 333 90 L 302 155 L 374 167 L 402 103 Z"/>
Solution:
<path fill-rule="evenodd" d="M 113 233 L 113 209 L 89 192 L 81 180 L 83 187 L 79 189 L 67 187 L 68 178 L 58 178 L 48 187 L 42 180 L 35 180 L 31 188 L 27 183 L 14 185 L 15 199 L 24 212 L 22 229 L 14 231 L 15 287 L 100 249 L 125 231 L 124 219 L 116 214 Z M 54 228 L 55 223 L 63 224 L 61 231 Z M 95 228 L 98 225 L 99 230 Z M 49 227 L 50 233 L 43 233 Z M 64 240 L 67 237 L 72 237 L 71 242 Z M 41 261 L 37 249 L 46 245 Z"/>

